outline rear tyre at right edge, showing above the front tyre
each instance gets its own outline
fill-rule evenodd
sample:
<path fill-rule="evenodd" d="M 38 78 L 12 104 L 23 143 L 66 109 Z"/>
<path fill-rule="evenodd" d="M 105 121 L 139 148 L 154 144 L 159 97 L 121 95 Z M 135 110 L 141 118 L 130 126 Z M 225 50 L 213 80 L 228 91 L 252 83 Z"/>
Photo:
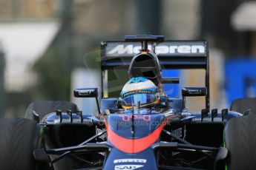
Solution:
<path fill-rule="evenodd" d="M 232 101 L 230 110 L 243 113 L 247 109 L 256 111 L 256 98 L 239 98 Z"/>

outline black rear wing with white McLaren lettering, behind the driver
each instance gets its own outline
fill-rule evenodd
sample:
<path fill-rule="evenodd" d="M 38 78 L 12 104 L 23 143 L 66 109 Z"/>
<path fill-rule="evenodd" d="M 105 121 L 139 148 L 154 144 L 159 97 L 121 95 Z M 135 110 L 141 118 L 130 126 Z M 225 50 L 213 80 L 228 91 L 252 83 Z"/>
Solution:
<path fill-rule="evenodd" d="M 140 42 L 102 41 L 102 75 L 104 76 L 108 69 L 128 69 L 131 59 L 140 52 L 140 49 Z M 148 50 L 157 54 L 162 69 L 205 69 L 206 109 L 209 109 L 209 46 L 207 41 L 149 42 Z M 104 84 L 104 80 L 102 83 Z"/>

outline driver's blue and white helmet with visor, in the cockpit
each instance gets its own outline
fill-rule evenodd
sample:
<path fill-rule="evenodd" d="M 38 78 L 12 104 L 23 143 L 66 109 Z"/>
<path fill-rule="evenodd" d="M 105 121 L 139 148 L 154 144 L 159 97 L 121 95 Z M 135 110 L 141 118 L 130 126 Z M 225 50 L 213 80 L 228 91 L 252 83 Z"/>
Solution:
<path fill-rule="evenodd" d="M 160 92 L 157 86 L 147 78 L 131 78 L 122 88 L 120 94 L 122 108 L 131 109 L 137 107 L 151 108 L 156 103 L 160 103 Z"/>

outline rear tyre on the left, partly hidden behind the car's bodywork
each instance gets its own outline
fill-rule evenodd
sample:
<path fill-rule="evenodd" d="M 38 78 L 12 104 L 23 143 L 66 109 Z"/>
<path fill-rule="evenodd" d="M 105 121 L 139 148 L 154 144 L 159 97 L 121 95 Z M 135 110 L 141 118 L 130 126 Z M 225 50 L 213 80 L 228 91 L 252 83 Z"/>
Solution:
<path fill-rule="evenodd" d="M 76 111 L 77 106 L 75 103 L 69 101 L 35 101 L 30 103 L 30 106 L 27 107 L 25 118 L 33 120 L 33 111 L 35 111 L 39 115 L 39 120 L 42 120 L 45 115 L 51 112 L 56 112 L 56 110 Z"/>

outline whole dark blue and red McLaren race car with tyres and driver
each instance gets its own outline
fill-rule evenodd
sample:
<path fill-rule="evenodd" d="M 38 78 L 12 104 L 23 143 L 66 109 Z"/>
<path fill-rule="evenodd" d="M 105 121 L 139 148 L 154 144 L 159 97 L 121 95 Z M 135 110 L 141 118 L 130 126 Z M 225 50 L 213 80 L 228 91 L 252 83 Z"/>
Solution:
<path fill-rule="evenodd" d="M 255 169 L 255 98 L 232 103 L 241 113 L 210 111 L 208 43 L 163 39 L 102 42 L 102 82 L 108 69 L 128 69 L 131 80 L 101 106 L 96 88 L 75 89 L 78 98 L 96 98 L 96 115 L 68 101 L 38 101 L 26 118 L 1 119 L 1 169 Z M 179 78 L 163 78 L 162 69 L 205 69 L 206 87 L 171 98 L 162 86 Z M 190 96 L 205 96 L 206 108 L 188 112 Z"/>

